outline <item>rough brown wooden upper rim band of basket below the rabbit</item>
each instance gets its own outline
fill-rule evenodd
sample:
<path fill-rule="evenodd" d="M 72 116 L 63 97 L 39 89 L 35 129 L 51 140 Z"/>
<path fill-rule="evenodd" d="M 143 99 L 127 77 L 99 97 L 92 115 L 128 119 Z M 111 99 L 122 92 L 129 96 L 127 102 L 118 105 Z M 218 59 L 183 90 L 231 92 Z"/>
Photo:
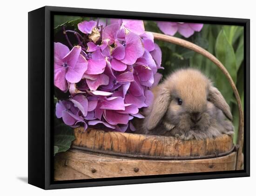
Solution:
<path fill-rule="evenodd" d="M 205 156 L 228 152 L 233 146 L 233 139 L 228 135 L 216 139 L 185 141 L 174 137 L 104 132 L 93 128 L 84 131 L 83 127 L 75 128 L 74 135 L 73 145 L 134 155 Z"/>

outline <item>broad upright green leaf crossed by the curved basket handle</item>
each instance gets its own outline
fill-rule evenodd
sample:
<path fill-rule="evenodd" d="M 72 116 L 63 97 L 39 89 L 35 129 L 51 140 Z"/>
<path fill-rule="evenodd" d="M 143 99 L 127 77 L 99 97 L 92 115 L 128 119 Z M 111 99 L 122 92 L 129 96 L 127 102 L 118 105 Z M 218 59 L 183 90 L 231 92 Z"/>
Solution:
<path fill-rule="evenodd" d="M 216 57 L 226 67 L 233 81 L 236 83 L 236 55 L 224 30 L 220 31 L 216 39 L 215 53 Z M 233 90 L 229 85 L 228 79 L 220 69 L 216 70 L 216 87 L 221 91 L 225 100 L 230 105 Z"/>

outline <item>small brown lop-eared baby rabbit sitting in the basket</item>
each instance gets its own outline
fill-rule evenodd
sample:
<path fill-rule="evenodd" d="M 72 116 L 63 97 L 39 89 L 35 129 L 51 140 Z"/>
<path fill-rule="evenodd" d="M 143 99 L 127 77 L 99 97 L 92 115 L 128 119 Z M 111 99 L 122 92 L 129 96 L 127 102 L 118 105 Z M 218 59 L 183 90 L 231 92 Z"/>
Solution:
<path fill-rule="evenodd" d="M 143 110 L 145 119 L 135 122 L 136 133 L 185 140 L 234 133 L 229 105 L 199 70 L 175 71 L 153 89 L 153 94 L 153 104 Z"/>

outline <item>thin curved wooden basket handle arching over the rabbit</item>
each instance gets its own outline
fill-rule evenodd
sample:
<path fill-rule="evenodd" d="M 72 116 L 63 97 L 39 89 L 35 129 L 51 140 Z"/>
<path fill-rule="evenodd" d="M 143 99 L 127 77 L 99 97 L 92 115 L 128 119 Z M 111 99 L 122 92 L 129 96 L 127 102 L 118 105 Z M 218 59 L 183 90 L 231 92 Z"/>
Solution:
<path fill-rule="evenodd" d="M 201 48 L 200 46 L 198 46 L 196 44 L 193 44 L 193 43 L 186 41 L 184 39 L 181 39 L 181 38 L 164 35 L 162 33 L 155 33 L 155 32 L 151 32 L 151 33 L 153 33 L 155 39 L 170 42 L 172 44 L 181 45 L 185 48 L 188 48 L 192 51 L 195 51 L 195 52 L 203 55 L 204 57 L 207 57 L 210 61 L 215 63 L 217 65 L 217 67 L 219 67 L 222 70 L 222 72 L 224 73 L 224 75 L 227 77 L 227 79 L 234 91 L 234 94 L 236 97 L 236 102 L 238 104 L 238 110 L 239 110 L 239 127 L 238 127 L 237 141 L 236 141 L 236 143 L 239 145 L 239 148 L 238 148 L 237 158 L 236 158 L 236 170 L 241 170 L 241 167 L 243 164 L 243 154 L 242 154 L 243 153 L 243 109 L 242 109 L 242 103 L 241 103 L 239 93 L 236 89 L 236 84 L 234 83 L 231 76 L 229 75 L 228 70 L 224 67 L 224 65 L 215 56 L 213 56 L 211 53 L 209 53 L 208 51 L 204 50 L 203 48 Z"/>

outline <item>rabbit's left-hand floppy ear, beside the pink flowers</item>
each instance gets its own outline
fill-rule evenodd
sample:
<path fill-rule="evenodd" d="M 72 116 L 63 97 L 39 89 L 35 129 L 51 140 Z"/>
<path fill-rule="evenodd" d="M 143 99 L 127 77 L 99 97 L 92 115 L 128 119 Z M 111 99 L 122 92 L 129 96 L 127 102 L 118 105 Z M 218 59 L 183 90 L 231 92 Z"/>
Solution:
<path fill-rule="evenodd" d="M 152 130 L 162 120 L 164 114 L 168 109 L 171 95 L 168 89 L 161 89 L 159 94 L 155 97 L 152 103 L 152 109 L 148 115 L 146 128 Z"/>

